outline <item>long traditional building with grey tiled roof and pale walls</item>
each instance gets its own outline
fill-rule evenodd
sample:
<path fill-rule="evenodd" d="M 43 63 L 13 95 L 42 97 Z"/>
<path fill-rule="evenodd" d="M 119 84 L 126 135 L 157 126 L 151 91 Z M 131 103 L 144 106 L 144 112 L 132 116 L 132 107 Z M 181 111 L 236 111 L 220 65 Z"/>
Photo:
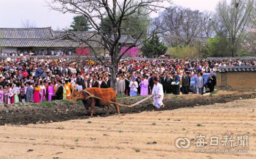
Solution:
<path fill-rule="evenodd" d="M 74 36 L 73 36 L 74 35 Z M 0 49 L 1 52 L 33 52 L 37 54 L 52 55 L 57 52 L 67 52 L 70 54 L 73 48 L 86 46 L 74 39 L 100 40 L 100 36 L 94 31 L 66 32 L 54 31 L 51 27 L 47 28 L 0 28 Z M 130 45 L 134 43 L 131 36 L 121 36 L 119 43 Z M 87 41 L 91 46 L 99 48 L 103 56 L 108 56 L 105 49 L 95 41 Z M 139 48 L 142 45 L 138 46 Z"/>

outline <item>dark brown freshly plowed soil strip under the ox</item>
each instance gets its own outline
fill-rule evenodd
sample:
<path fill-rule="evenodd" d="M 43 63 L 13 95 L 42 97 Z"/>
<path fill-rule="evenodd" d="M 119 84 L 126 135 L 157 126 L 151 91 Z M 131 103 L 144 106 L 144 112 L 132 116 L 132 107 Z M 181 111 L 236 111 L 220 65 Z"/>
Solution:
<path fill-rule="evenodd" d="M 239 99 L 252 99 L 256 97 L 255 92 L 246 93 L 233 93 L 233 94 L 220 94 L 213 96 L 201 96 L 196 94 L 190 95 L 166 95 L 163 100 L 165 104 L 164 108 L 156 110 L 152 104 L 153 100 L 140 103 L 134 107 L 119 106 L 121 114 L 133 114 L 148 111 L 166 111 L 174 110 L 177 108 L 185 107 L 197 107 L 199 105 L 212 105 L 215 103 L 227 103 Z M 132 99 L 118 99 L 118 103 L 125 105 L 132 105 L 141 101 L 143 98 Z M 94 117 L 105 116 L 107 112 L 107 106 L 94 107 Z M 108 116 L 116 114 L 116 109 L 112 106 Z M 88 119 L 89 113 L 85 111 L 85 107 L 79 104 L 65 104 L 65 102 L 58 102 L 55 106 L 42 106 L 37 104 L 36 106 L 26 105 L 7 105 L 0 108 L 0 124 L 29 124 L 36 122 L 48 123 L 50 121 L 67 121 L 73 119 Z"/>

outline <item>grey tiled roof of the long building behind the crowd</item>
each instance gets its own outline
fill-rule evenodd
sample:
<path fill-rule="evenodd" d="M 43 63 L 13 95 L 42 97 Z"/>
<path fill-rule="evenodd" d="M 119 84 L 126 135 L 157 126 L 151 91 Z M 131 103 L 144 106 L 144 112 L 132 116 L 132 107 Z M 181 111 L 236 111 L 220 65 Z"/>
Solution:
<path fill-rule="evenodd" d="M 3 47 L 79 47 L 80 40 L 86 40 L 93 47 L 101 47 L 97 41 L 100 35 L 95 31 L 61 32 L 47 28 L 0 28 L 0 46 Z M 75 42 L 75 41 L 77 42 Z M 90 41 L 92 40 L 92 41 Z M 119 43 L 133 44 L 131 36 L 121 36 Z M 80 45 L 81 44 L 81 45 Z M 138 43 L 139 44 L 139 41 Z M 142 45 L 137 46 L 141 48 Z"/>

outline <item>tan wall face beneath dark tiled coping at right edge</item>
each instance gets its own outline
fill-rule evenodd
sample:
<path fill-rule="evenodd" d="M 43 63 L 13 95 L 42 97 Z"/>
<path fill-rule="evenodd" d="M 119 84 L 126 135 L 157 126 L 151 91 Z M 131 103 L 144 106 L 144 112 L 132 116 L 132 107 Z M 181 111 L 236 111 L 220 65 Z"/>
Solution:
<path fill-rule="evenodd" d="M 218 90 L 256 90 L 256 71 L 217 72 Z"/>

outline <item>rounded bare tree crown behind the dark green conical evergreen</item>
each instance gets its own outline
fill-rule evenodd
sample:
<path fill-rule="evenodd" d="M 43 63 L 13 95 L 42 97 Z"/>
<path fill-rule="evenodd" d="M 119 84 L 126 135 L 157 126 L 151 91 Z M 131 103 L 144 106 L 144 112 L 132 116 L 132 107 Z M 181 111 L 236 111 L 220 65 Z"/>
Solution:
<path fill-rule="evenodd" d="M 169 46 L 193 45 L 197 37 L 205 35 L 205 28 L 210 29 L 204 24 L 204 14 L 198 10 L 191 11 L 181 6 L 170 6 L 169 10 L 172 12 L 163 11 L 153 21 L 153 26 L 165 21 L 163 28 L 175 28 L 162 34 Z M 209 30 L 206 32 L 209 34 Z"/>

